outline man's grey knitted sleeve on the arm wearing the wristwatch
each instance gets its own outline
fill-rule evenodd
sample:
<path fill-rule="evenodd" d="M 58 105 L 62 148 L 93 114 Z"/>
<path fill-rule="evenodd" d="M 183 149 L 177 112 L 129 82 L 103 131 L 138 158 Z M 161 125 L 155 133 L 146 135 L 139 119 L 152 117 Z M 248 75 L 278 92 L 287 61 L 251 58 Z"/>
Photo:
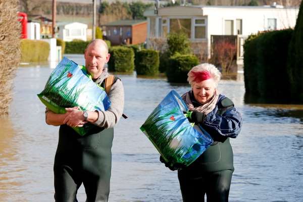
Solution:
<path fill-rule="evenodd" d="M 105 112 L 98 111 L 99 118 L 93 124 L 99 127 L 113 128 L 120 120 L 124 108 L 124 89 L 120 79 L 112 85 L 108 96 L 112 103 L 110 108 Z"/>

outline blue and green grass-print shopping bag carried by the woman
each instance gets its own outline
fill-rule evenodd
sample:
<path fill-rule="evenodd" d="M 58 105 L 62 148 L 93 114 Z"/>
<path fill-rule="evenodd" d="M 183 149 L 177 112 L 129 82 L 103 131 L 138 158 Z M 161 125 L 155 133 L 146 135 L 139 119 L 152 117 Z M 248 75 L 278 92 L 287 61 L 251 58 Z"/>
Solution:
<path fill-rule="evenodd" d="M 188 121 L 187 114 L 187 106 L 172 90 L 140 127 L 171 165 L 190 165 L 213 143 L 208 132 Z"/>

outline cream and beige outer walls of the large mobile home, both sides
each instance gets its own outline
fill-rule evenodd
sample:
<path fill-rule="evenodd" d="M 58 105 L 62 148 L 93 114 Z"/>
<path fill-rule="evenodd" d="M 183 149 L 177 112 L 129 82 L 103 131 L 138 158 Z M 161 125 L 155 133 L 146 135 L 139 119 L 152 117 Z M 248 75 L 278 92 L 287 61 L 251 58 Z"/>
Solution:
<path fill-rule="evenodd" d="M 146 12 L 148 22 L 148 37 L 152 27 L 151 18 L 156 19 L 156 27 L 153 37 L 160 37 L 159 18 L 167 18 L 169 30 L 169 19 L 191 19 L 192 41 L 206 41 L 210 51 L 211 35 L 225 35 L 225 20 L 233 22 L 233 34 L 237 35 L 236 20 L 242 20 L 242 35 L 250 35 L 258 31 L 268 30 L 268 19 L 276 19 L 276 29 L 293 28 L 295 26 L 298 9 L 271 8 L 271 7 L 167 7 L 159 9 L 159 15 L 152 15 Z M 194 39 L 193 22 L 196 18 L 206 20 L 206 38 Z"/>

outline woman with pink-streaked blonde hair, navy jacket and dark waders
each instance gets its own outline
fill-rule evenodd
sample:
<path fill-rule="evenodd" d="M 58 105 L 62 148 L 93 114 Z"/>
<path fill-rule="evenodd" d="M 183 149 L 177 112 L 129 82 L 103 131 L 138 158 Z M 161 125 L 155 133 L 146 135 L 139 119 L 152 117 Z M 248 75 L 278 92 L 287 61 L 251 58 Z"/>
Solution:
<path fill-rule="evenodd" d="M 242 118 L 232 101 L 219 94 L 221 73 L 214 65 L 195 66 L 187 75 L 191 90 L 182 99 L 191 111 L 189 120 L 203 127 L 214 143 L 191 165 L 178 169 L 182 198 L 204 201 L 206 194 L 207 201 L 228 201 L 234 171 L 229 137 L 237 137 Z"/>

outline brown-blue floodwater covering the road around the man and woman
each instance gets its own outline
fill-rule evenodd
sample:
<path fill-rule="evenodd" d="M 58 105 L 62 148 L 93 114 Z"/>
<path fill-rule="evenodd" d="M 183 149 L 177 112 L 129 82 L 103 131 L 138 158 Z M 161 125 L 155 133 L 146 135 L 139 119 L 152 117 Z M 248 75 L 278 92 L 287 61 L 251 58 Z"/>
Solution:
<path fill-rule="evenodd" d="M 68 57 L 84 63 L 81 56 Z M 0 201 L 54 201 L 59 127 L 44 123 L 44 106 L 36 96 L 54 66 L 30 64 L 17 71 L 10 116 L 0 120 Z M 171 89 L 181 94 L 189 86 L 118 76 L 129 118 L 115 127 L 109 201 L 181 201 L 177 172 L 159 162 L 139 127 Z M 231 139 L 235 171 L 230 201 L 303 201 L 303 106 L 244 104 L 243 75 L 238 78 L 219 84 L 243 117 L 241 133 Z M 78 199 L 85 201 L 83 186 Z"/>

